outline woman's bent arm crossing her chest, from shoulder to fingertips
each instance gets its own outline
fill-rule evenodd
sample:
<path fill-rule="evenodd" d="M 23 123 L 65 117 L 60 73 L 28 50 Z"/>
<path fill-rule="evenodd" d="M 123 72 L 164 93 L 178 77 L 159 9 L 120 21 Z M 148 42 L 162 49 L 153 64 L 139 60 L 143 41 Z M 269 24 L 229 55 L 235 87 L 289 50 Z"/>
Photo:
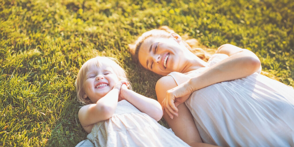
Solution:
<path fill-rule="evenodd" d="M 227 54 L 229 57 L 166 92 L 164 109 L 170 112 L 170 117 L 177 114 L 176 106 L 186 101 L 193 91 L 214 83 L 244 78 L 260 69 L 260 60 L 247 49 L 224 44 L 218 48 L 216 53 Z"/>

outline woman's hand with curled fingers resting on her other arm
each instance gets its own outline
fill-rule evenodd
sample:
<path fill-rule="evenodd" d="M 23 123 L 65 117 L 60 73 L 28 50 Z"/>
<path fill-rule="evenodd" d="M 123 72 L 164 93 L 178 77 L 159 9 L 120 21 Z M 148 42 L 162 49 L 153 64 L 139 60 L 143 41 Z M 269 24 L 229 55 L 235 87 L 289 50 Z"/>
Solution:
<path fill-rule="evenodd" d="M 193 89 L 189 81 L 166 91 L 166 97 L 162 101 L 163 112 L 167 113 L 171 119 L 173 119 L 173 115 L 178 116 L 177 106 L 185 102 L 191 93 L 193 93 Z"/>

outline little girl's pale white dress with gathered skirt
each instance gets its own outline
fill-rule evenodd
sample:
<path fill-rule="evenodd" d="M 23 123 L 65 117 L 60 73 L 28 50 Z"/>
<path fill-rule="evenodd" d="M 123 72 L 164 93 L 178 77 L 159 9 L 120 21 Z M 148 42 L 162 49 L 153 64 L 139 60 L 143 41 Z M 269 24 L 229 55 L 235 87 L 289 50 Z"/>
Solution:
<path fill-rule="evenodd" d="M 126 100 L 118 102 L 111 118 L 95 123 L 87 138 L 77 146 L 188 146 Z"/>

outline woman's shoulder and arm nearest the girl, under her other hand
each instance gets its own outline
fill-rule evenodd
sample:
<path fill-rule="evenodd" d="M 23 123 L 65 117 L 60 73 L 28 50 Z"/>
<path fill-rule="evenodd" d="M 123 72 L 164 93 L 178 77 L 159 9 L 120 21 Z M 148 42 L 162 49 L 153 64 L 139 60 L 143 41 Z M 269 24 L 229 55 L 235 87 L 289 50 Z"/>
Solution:
<path fill-rule="evenodd" d="M 156 95 L 159 103 L 162 103 L 166 96 L 166 91 L 176 87 L 177 84 L 171 76 L 164 76 L 156 83 Z M 178 106 L 178 116 L 170 118 L 167 113 L 163 114 L 163 118 L 171 127 L 176 136 L 181 138 L 190 146 L 213 146 L 202 143 L 201 137 L 195 126 L 193 116 L 184 103 Z"/>

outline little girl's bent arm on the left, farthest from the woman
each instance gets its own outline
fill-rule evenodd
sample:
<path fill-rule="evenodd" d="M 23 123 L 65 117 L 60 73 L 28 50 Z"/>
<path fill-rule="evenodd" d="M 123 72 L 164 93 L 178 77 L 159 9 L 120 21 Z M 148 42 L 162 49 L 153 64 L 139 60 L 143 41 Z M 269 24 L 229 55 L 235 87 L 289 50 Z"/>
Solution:
<path fill-rule="evenodd" d="M 78 119 L 87 133 L 91 132 L 94 123 L 110 118 L 117 106 L 121 85 L 126 81 L 120 81 L 105 96 L 96 103 L 83 106 L 78 111 Z"/>

